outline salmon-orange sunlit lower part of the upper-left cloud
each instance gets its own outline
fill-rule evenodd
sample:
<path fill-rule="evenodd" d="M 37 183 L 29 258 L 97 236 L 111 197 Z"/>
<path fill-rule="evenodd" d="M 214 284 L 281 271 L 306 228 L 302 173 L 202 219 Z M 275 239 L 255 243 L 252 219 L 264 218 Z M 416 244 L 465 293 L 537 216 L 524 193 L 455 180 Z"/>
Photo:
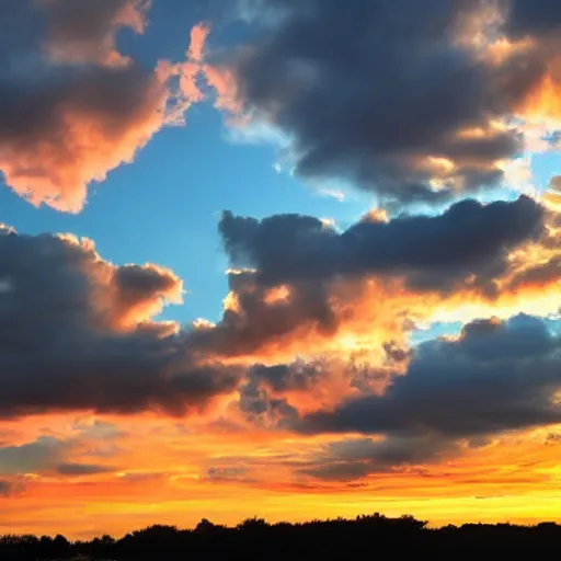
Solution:
<path fill-rule="evenodd" d="M 5 182 L 33 205 L 78 213 L 88 184 L 133 161 L 160 130 L 169 95 L 156 76 L 130 67 L 94 71 L 68 89 L 16 102 L 12 118 L 44 115 L 31 129 L 0 135 Z"/>

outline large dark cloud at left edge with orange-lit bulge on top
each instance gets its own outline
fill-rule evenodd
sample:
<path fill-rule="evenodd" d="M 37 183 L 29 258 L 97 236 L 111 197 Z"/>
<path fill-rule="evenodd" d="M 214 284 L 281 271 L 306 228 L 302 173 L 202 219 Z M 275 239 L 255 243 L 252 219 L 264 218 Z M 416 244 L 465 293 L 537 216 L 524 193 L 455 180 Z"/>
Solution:
<path fill-rule="evenodd" d="M 239 371 L 188 353 L 152 321 L 182 283 L 156 265 L 115 266 L 89 240 L 0 233 L 0 415 L 201 411 Z"/>

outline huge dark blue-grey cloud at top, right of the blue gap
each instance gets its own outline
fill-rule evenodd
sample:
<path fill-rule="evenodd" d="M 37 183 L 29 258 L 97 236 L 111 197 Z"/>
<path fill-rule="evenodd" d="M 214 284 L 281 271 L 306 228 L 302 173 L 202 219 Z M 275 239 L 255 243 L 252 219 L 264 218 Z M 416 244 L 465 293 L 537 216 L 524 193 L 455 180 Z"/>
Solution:
<path fill-rule="evenodd" d="M 495 68 L 457 41 L 489 3 L 265 0 L 259 38 L 221 64 L 244 108 L 293 139 L 300 175 L 351 180 L 386 202 L 442 203 L 497 182 L 500 160 L 522 147 L 515 129 L 491 123 L 537 76 L 522 55 Z M 474 128 L 483 134 L 461 134 Z"/>

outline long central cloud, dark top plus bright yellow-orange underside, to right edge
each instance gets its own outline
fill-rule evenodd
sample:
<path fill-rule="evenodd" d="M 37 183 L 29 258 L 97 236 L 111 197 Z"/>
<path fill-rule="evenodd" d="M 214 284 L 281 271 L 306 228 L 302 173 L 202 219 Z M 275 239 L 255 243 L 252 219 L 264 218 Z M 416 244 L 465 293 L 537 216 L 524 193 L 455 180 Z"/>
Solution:
<path fill-rule="evenodd" d="M 344 231 L 312 216 L 227 211 L 224 314 L 197 323 L 188 344 L 268 366 L 322 354 L 404 366 L 417 327 L 557 310 L 558 221 L 527 196 L 466 199 L 434 215 L 367 214 Z"/>

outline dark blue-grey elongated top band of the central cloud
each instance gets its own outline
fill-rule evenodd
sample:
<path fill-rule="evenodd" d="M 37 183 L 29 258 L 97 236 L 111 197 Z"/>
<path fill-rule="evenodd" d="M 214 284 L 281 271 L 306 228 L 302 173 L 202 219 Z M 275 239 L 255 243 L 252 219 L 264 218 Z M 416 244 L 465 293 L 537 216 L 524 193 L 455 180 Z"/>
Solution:
<path fill-rule="evenodd" d="M 259 221 L 225 213 L 220 221 L 231 264 L 255 267 L 263 285 L 376 273 L 442 290 L 468 275 L 483 283 L 503 273 L 507 252 L 542 229 L 542 207 L 524 196 L 489 205 L 463 201 L 439 216 L 364 220 L 342 233 L 299 215 Z"/>

